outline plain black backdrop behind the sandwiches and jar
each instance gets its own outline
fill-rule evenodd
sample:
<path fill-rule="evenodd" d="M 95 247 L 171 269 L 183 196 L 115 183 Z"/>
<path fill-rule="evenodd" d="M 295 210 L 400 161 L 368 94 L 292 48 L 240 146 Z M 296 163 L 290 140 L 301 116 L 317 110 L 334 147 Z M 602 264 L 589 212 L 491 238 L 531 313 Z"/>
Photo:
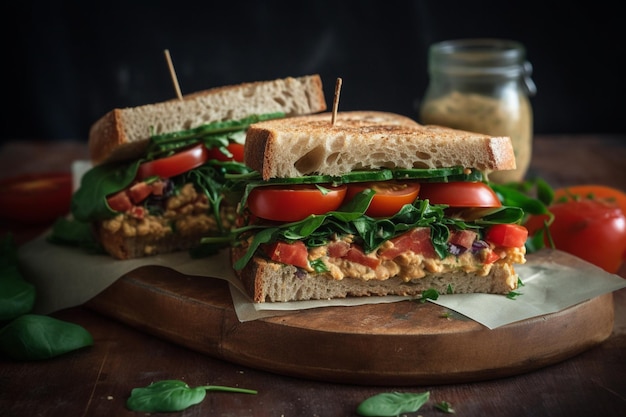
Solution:
<path fill-rule="evenodd" d="M 14 2 L 18 3 L 18 2 Z M 584 3 L 583 3 L 584 4 Z M 551 1 L 23 1 L 3 13 L 2 139 L 86 140 L 115 107 L 246 81 L 319 73 L 329 108 L 417 118 L 427 49 L 471 37 L 522 42 L 535 133 L 624 133 L 626 20 Z M 617 5 L 615 6 L 617 7 Z"/>

